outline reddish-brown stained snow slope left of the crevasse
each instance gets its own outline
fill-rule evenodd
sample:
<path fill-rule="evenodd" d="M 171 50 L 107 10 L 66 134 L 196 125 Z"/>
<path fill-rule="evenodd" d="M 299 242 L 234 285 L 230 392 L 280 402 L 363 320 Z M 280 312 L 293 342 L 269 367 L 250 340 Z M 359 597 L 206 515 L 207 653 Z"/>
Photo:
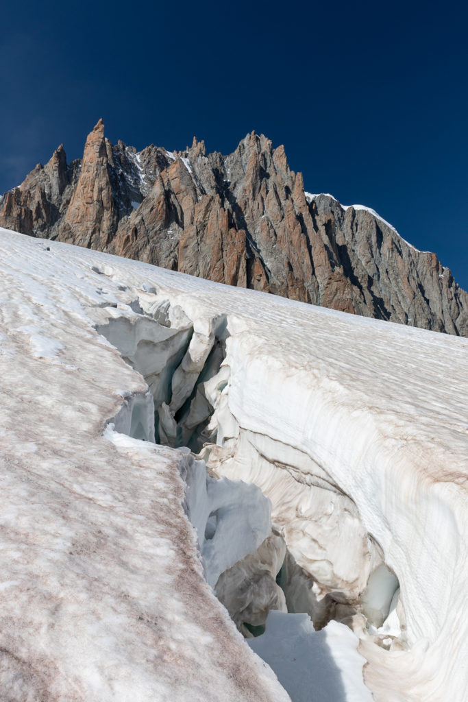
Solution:
<path fill-rule="evenodd" d="M 0 246 L 0 699 L 286 702 L 203 578 L 186 454 L 105 429 L 147 388 L 87 312 L 128 293 L 105 257 Z"/>

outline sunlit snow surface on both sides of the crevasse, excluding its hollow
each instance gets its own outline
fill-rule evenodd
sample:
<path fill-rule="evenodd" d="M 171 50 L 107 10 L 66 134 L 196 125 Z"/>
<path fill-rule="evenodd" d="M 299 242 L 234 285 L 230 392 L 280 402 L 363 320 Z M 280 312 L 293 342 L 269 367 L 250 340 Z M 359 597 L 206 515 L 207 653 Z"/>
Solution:
<path fill-rule="evenodd" d="M 142 291 L 192 319 L 227 314 L 232 416 L 312 456 L 382 546 L 411 650 L 361 642 L 377 699 L 468 697 L 467 340 L 6 230 L 0 246 L 8 699 L 287 699 L 203 581 L 183 454 L 106 435 L 124 398 L 147 388 L 93 310 L 131 316 Z M 340 665 L 342 643 L 333 665 L 342 698 L 356 699 L 342 673 L 362 660 L 354 644 Z"/>

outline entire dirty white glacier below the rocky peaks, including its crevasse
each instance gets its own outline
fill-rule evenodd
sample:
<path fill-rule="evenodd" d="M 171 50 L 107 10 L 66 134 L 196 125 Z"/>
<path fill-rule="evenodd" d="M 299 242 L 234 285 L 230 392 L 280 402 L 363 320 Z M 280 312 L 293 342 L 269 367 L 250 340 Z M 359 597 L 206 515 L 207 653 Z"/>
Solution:
<path fill-rule="evenodd" d="M 9 698 L 468 696 L 467 340 L 0 241 Z"/>

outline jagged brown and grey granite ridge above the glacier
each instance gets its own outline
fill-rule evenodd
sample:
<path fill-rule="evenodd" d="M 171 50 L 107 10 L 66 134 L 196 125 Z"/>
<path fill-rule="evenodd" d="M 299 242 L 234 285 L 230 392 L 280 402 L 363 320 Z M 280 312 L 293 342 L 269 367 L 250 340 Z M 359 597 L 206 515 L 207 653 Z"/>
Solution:
<path fill-rule="evenodd" d="M 62 146 L 0 199 L 0 226 L 366 317 L 468 336 L 468 295 L 369 208 L 305 192 L 283 146 Z"/>

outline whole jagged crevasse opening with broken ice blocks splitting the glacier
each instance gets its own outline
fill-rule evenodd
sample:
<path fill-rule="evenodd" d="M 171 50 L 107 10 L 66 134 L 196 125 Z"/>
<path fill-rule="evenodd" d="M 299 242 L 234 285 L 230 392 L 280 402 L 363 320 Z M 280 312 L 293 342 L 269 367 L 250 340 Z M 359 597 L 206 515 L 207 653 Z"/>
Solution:
<path fill-rule="evenodd" d="M 248 363 L 239 321 L 192 319 L 152 290 L 125 310 L 95 310 L 95 322 L 147 383 L 124 399 L 115 430 L 187 454 L 185 510 L 206 580 L 236 627 L 293 701 L 311 699 L 311 684 L 317 699 L 371 699 L 353 632 L 406 648 L 398 578 L 352 499 L 285 442 L 281 423 L 261 433 L 236 411 L 262 402 L 246 387 L 239 395 Z"/>

